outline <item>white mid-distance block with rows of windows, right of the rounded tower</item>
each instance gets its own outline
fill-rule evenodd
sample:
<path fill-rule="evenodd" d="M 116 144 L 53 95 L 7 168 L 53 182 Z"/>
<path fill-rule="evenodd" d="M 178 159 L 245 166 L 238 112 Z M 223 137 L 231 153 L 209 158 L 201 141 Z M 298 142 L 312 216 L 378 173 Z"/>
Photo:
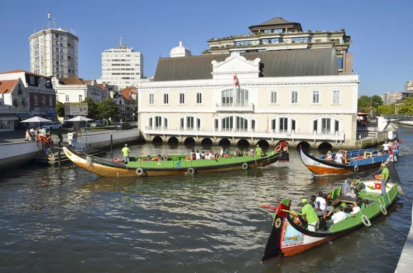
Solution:
<path fill-rule="evenodd" d="M 118 85 L 120 89 L 134 87 L 143 77 L 143 54 L 123 45 L 102 52 L 102 78 L 99 83 Z"/>

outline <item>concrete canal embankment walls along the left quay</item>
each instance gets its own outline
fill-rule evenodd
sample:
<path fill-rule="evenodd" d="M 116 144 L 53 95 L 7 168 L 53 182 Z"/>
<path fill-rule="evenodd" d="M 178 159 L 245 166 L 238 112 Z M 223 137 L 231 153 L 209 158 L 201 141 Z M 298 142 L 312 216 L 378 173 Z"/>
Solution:
<path fill-rule="evenodd" d="M 85 144 L 86 149 L 103 149 L 110 146 L 110 135 L 114 145 L 127 142 L 143 141 L 140 130 L 99 131 L 93 133 L 78 133 L 78 141 Z M 54 138 L 53 138 L 54 139 Z M 67 135 L 63 135 L 67 141 Z M 0 144 L 0 171 L 8 171 L 31 162 L 36 152 L 41 149 L 41 143 L 32 141 L 10 140 Z"/>

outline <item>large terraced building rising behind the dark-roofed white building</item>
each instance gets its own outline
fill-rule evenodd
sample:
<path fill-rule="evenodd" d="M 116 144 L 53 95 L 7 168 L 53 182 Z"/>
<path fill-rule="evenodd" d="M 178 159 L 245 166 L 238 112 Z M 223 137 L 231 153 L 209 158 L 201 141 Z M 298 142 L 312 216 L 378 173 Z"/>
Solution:
<path fill-rule="evenodd" d="M 352 41 L 346 30 L 304 31 L 300 23 L 275 17 L 260 25 L 251 25 L 250 34 L 213 38 L 209 49 L 202 54 L 229 54 L 231 52 L 266 52 L 274 50 L 303 50 L 335 48 L 339 74 L 352 74 L 352 54 L 348 47 Z"/>

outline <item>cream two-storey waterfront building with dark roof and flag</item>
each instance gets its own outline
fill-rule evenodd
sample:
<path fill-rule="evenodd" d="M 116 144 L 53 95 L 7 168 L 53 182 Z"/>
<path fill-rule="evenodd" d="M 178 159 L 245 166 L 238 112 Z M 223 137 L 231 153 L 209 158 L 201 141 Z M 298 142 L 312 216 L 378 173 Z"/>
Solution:
<path fill-rule="evenodd" d="M 335 47 L 160 58 L 139 127 L 147 141 L 352 147 L 358 86 Z"/>

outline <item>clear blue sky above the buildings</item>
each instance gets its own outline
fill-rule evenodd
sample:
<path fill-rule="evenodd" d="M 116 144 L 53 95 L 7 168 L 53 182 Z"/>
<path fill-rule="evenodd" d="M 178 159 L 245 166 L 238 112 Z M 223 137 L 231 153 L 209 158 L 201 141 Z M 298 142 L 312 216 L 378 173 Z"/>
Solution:
<path fill-rule="evenodd" d="M 1 5 L 0 72 L 30 70 L 28 37 L 47 26 L 52 12 L 57 28 L 79 37 L 79 76 L 100 78 L 101 52 L 123 37 L 144 55 L 144 76 L 153 76 L 159 56 L 169 57 L 180 32 L 185 47 L 201 54 L 212 37 L 248 34 L 248 26 L 273 17 L 301 23 L 304 30 L 346 29 L 352 36 L 353 69 L 359 94 L 402 91 L 413 80 L 412 19 L 409 0 L 261 1 L 9 1 Z"/>

